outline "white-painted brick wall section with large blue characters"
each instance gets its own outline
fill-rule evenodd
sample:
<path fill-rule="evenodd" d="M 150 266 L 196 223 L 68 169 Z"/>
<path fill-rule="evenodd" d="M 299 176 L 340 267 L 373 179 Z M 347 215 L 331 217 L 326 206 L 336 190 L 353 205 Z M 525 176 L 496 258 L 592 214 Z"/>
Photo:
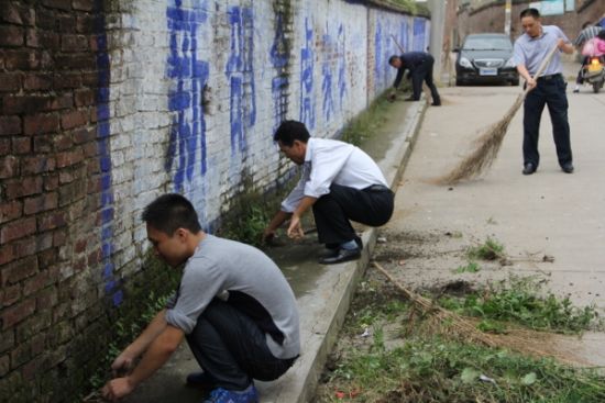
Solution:
<path fill-rule="evenodd" d="M 141 0 L 113 15 L 112 270 L 136 270 L 140 212 L 158 194 L 187 195 L 215 231 L 244 178 L 276 186 L 293 167 L 272 141 L 279 122 L 338 136 L 394 80 L 393 37 L 422 49 L 428 27 L 349 1 Z"/>

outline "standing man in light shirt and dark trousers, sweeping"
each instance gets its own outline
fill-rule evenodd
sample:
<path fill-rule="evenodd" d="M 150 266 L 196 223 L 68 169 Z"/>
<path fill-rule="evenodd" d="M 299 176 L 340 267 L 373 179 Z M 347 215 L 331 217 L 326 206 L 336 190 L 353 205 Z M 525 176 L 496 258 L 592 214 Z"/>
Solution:
<path fill-rule="evenodd" d="M 572 173 L 566 82 L 562 75 L 560 52 L 572 54 L 573 45 L 558 26 L 542 25 L 540 12 L 537 9 L 521 11 L 520 20 L 525 33 L 515 42 L 514 60 L 529 91 L 524 101 L 522 173 L 536 172 L 540 163 L 538 137 L 544 105 L 548 105 L 550 112 L 559 165 L 563 172 Z M 554 53 L 543 74 L 540 77 L 534 77 L 540 63 L 556 46 L 559 52 Z"/>

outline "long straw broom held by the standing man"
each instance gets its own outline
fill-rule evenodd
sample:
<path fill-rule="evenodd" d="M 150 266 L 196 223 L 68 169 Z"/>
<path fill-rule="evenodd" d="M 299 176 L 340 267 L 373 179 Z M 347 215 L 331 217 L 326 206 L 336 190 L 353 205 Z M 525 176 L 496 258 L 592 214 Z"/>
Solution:
<path fill-rule="evenodd" d="M 534 77 L 540 77 L 540 75 L 544 71 L 548 64 L 552 59 L 552 56 L 554 55 L 554 52 L 557 52 L 557 49 L 558 46 L 554 46 L 549 52 L 547 57 L 540 64 L 540 67 L 538 68 L 538 71 Z M 450 173 L 436 179 L 435 182 L 439 184 L 453 184 L 463 179 L 476 177 L 485 169 L 490 168 L 496 159 L 496 156 L 498 155 L 502 141 L 504 139 L 506 131 L 508 130 L 508 124 L 515 116 L 515 113 L 517 113 L 517 111 L 524 103 L 524 100 L 529 91 L 529 87 L 526 88 L 525 91 L 519 94 L 519 97 L 517 98 L 513 107 L 510 107 L 508 112 L 504 115 L 504 117 L 501 119 L 499 122 L 490 126 L 484 134 L 475 139 L 475 149 L 473 150 L 473 153 L 464 158 L 454 169 L 450 171 Z"/>

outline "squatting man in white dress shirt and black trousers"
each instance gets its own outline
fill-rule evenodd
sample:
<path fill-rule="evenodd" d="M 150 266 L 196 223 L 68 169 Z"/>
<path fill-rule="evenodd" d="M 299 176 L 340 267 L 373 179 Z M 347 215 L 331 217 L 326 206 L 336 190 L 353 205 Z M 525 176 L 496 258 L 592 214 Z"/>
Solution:
<path fill-rule="evenodd" d="M 302 172 L 265 230 L 265 240 L 288 217 L 287 235 L 305 236 L 300 217 L 311 208 L 319 242 L 329 249 L 319 262 L 359 258 L 362 244 L 350 221 L 380 226 L 393 214 L 394 193 L 376 163 L 352 144 L 311 138 L 305 124 L 296 121 L 283 122 L 273 139 L 286 157 L 302 167 Z"/>

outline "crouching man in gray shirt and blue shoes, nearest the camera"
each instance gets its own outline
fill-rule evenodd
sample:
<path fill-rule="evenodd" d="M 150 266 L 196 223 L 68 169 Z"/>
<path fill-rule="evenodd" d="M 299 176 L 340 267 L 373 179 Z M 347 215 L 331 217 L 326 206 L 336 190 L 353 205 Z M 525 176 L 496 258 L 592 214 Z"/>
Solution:
<path fill-rule="evenodd" d="M 296 299 L 282 271 L 252 246 L 204 233 L 179 194 L 160 197 L 142 217 L 156 255 L 185 267 L 166 309 L 113 361 L 128 374 L 109 381 L 103 396 L 132 392 L 186 338 L 204 370 L 187 382 L 213 389 L 205 402 L 257 402 L 252 380 L 277 379 L 300 351 Z"/>

